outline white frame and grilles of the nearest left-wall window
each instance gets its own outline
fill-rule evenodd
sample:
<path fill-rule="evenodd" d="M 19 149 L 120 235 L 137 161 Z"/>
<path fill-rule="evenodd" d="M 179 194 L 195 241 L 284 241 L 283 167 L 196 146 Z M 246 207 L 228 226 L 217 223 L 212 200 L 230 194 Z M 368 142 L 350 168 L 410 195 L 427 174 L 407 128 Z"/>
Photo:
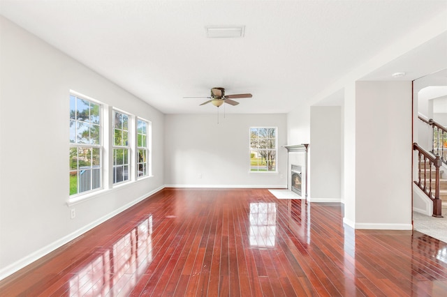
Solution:
<path fill-rule="evenodd" d="M 74 105 L 74 110 L 75 110 L 75 114 L 74 116 L 71 115 L 71 111 L 72 109 L 72 98 L 74 99 L 75 105 Z M 93 98 L 90 98 L 89 96 L 85 96 L 82 95 L 80 93 L 76 93 L 73 91 L 70 91 L 68 93 L 68 99 L 70 100 L 70 107 L 69 107 L 69 111 L 70 111 L 70 115 L 69 115 L 69 137 L 68 137 L 68 173 L 70 174 L 70 182 L 69 182 L 69 190 L 68 190 L 68 197 L 70 200 L 73 199 L 78 199 L 78 197 L 82 197 L 85 195 L 90 195 L 92 192 L 97 192 L 99 190 L 103 190 L 104 188 L 104 180 L 103 180 L 103 167 L 104 167 L 104 162 L 103 162 L 103 108 L 104 105 L 102 102 L 99 102 L 98 100 L 95 100 Z M 87 101 L 89 102 L 89 119 L 88 121 L 82 121 L 78 118 L 78 99 L 82 100 L 82 101 Z M 91 118 L 91 105 L 97 105 L 98 106 L 98 121 L 92 121 Z M 72 123 L 75 125 L 74 128 L 72 128 Z M 78 142 L 78 127 L 79 127 L 79 123 L 86 123 L 87 125 L 91 125 L 91 126 L 98 126 L 98 135 L 97 135 L 97 142 L 98 143 L 82 143 L 82 142 Z M 74 130 L 74 133 L 73 133 Z M 72 142 L 72 139 L 74 139 L 75 141 Z M 89 129 L 89 142 L 91 142 L 91 129 Z M 72 151 L 75 150 L 76 151 L 76 167 L 73 168 L 73 162 L 72 162 Z M 81 169 L 80 168 L 80 158 L 78 157 L 80 154 L 80 150 L 90 150 L 90 169 Z M 94 150 L 97 151 L 97 157 L 94 158 Z M 98 162 L 98 165 L 95 164 L 94 161 Z M 98 167 L 94 167 L 94 166 L 98 166 Z M 84 174 L 87 170 L 89 170 L 90 174 L 89 174 L 89 190 L 84 190 L 82 192 L 80 192 L 80 174 Z M 76 192 L 71 194 L 71 176 L 73 174 L 73 172 L 76 172 Z M 99 178 L 97 179 L 99 186 L 97 186 L 96 188 L 94 188 L 94 176 L 96 176 L 96 174 L 94 174 L 94 172 L 97 172 L 97 174 L 99 175 Z"/>

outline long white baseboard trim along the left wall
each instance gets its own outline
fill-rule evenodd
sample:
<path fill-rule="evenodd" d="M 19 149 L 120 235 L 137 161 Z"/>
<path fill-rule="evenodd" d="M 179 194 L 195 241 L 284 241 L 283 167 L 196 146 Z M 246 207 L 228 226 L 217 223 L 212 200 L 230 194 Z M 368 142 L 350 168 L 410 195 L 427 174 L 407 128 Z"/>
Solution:
<path fill-rule="evenodd" d="M 35 252 L 32 252 L 28 256 L 15 261 L 13 264 L 10 264 L 4 268 L 1 268 L 0 269 L 0 280 L 3 280 L 3 278 L 6 278 L 9 275 L 16 273 L 17 271 L 20 271 L 20 269 L 24 268 L 25 266 L 33 263 L 34 261 L 40 259 L 41 257 L 44 257 L 46 254 L 49 254 L 50 252 L 57 250 L 62 245 L 65 245 L 66 243 L 73 241 L 73 239 L 77 238 L 78 236 L 85 234 L 85 232 L 93 229 L 94 227 L 98 226 L 99 224 L 102 224 L 106 220 L 113 218 L 118 213 L 125 211 L 127 208 L 134 206 L 138 202 L 146 199 L 147 197 L 154 195 L 156 192 L 163 190 L 163 188 L 165 188 L 164 185 L 162 185 L 159 188 L 156 188 L 155 190 L 148 192 L 145 195 L 142 195 L 141 197 L 138 197 L 137 199 L 129 202 L 128 204 L 125 204 L 124 206 L 122 206 L 120 208 L 117 208 L 115 211 L 112 211 L 111 213 L 108 213 L 107 215 L 104 215 L 103 217 L 98 218 L 98 220 L 95 220 L 94 222 L 87 224 L 85 227 L 82 227 L 76 231 L 73 231 L 71 234 L 68 234 L 68 235 L 58 239 L 57 241 L 54 241 L 53 243 L 50 243 L 49 245 L 46 245 L 45 247 L 43 247 L 39 250 L 36 250 Z"/>

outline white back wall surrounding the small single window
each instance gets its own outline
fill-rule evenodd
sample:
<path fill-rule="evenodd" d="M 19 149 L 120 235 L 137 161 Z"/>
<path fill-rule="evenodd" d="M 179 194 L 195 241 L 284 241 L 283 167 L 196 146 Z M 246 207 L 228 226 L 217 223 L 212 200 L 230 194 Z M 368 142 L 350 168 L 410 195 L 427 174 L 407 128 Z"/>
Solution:
<path fill-rule="evenodd" d="M 166 115 L 166 184 L 286 188 L 286 114 Z M 249 172 L 249 127 L 277 127 L 277 174 Z M 199 177 L 201 174 L 201 178 Z"/>

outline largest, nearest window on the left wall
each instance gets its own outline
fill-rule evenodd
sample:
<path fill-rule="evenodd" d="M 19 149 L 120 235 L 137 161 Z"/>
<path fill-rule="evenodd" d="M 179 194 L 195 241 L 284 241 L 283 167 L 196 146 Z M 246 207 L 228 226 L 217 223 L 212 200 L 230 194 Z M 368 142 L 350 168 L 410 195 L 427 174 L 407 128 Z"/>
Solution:
<path fill-rule="evenodd" d="M 101 188 L 101 105 L 70 95 L 70 195 Z"/>

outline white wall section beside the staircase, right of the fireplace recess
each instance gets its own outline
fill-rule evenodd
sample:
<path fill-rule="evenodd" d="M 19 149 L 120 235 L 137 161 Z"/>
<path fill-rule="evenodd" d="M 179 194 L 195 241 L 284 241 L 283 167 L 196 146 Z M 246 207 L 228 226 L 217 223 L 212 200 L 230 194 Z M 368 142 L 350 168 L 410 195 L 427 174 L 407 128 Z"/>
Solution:
<path fill-rule="evenodd" d="M 356 228 L 411 229 L 411 82 L 356 83 Z"/>

